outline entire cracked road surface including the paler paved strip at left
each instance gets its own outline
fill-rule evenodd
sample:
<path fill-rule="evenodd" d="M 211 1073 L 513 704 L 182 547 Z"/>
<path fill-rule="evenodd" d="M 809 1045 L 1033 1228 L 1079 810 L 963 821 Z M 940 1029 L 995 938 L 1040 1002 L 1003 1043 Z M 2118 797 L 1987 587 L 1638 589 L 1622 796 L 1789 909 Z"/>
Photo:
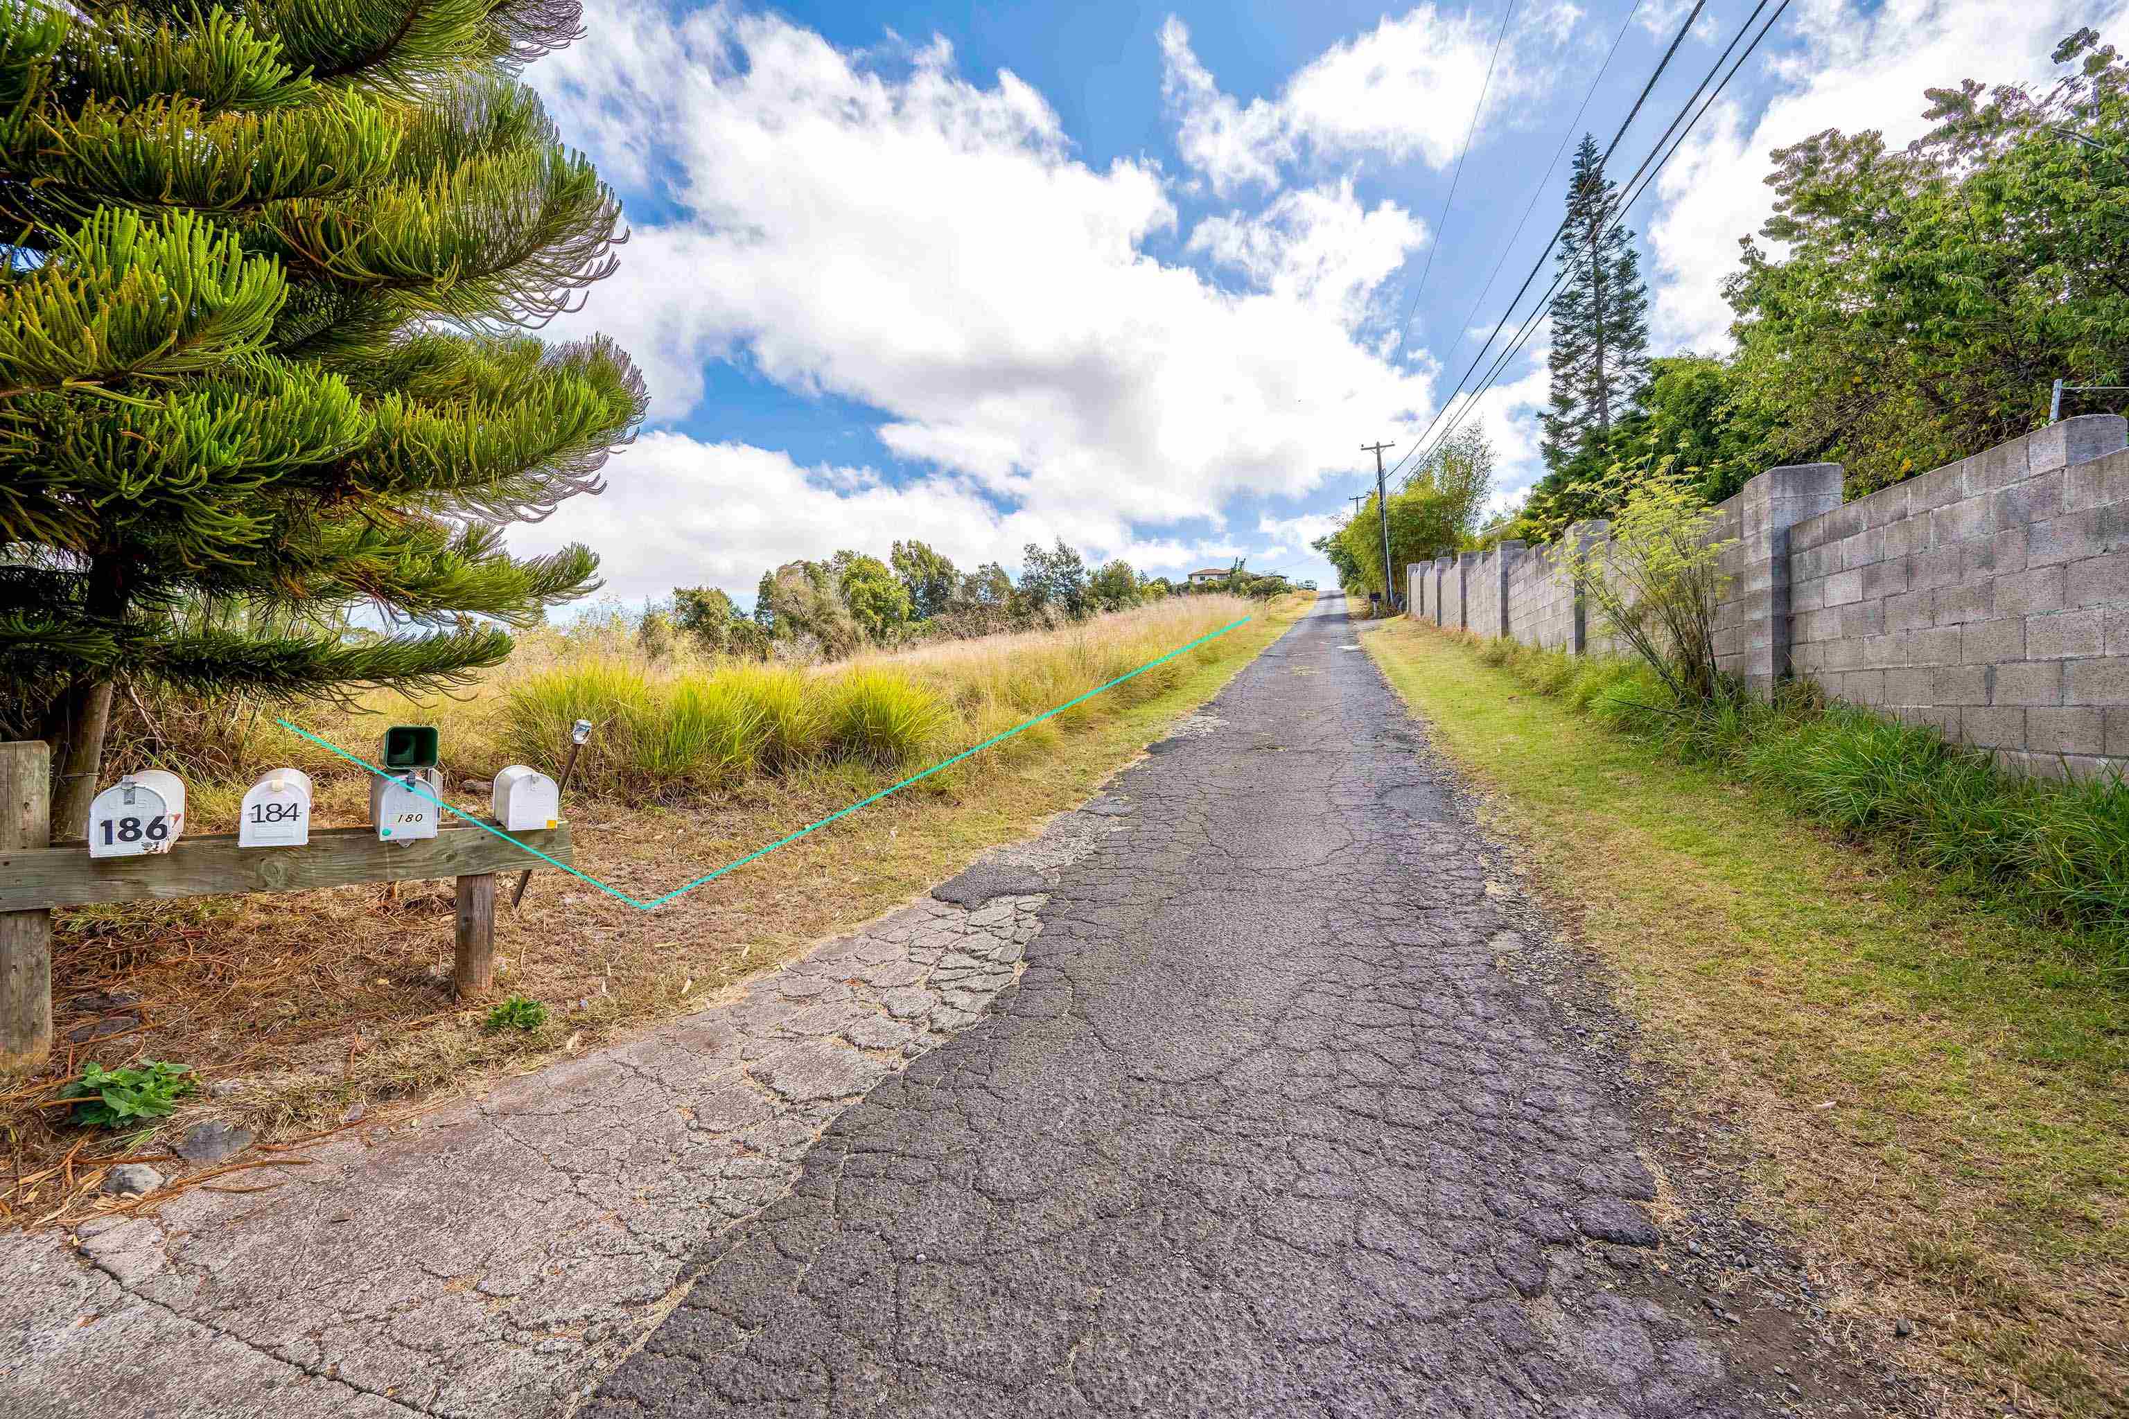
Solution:
<path fill-rule="evenodd" d="M 270 1191 L 0 1236 L 0 1413 L 1818 1398 L 1748 1383 L 1816 1383 L 1795 1330 L 1667 1274 L 1533 921 L 1324 598 L 1103 798 L 732 998 Z"/>

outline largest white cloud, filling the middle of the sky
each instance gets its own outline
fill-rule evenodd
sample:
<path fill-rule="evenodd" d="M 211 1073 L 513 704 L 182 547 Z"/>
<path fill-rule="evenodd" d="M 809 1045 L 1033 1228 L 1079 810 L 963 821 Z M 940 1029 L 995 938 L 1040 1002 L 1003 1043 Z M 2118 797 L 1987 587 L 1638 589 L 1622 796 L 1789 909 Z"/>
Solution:
<path fill-rule="evenodd" d="M 1265 274 L 1226 291 L 1145 253 L 1175 221 L 1156 166 L 1075 160 L 1035 89 L 1009 72 L 990 87 L 958 77 L 943 43 L 862 57 L 773 15 L 720 6 L 673 26 L 615 0 L 585 21 L 600 43 L 532 77 L 571 138 L 660 177 L 679 217 L 639 221 L 620 274 L 571 328 L 637 355 L 656 421 L 692 413 L 705 362 L 745 362 L 881 411 L 886 447 L 937 466 L 881 489 L 935 502 L 879 502 L 881 517 L 954 506 L 981 534 L 964 542 L 999 555 L 1026 540 L 1020 523 L 984 521 L 1005 506 L 1043 536 L 1130 555 L 1235 496 L 1305 496 L 1354 466 L 1352 428 L 1394 438 L 1429 404 L 1431 366 L 1397 368 L 1354 334 L 1365 296 L 1418 240 L 1394 206 L 1363 213 L 1335 187 L 1260 232 L 1209 234 Z M 1358 247 L 1339 249 L 1341 234 Z M 641 515 L 713 523 L 760 517 L 790 485 L 681 477 L 649 447 L 615 460 L 609 506 L 645 483 Z M 720 449 L 720 468 L 737 457 L 696 447 Z M 843 534 L 826 528 L 843 523 L 803 506 L 769 515 L 794 528 L 790 551 L 832 549 Z M 811 517 L 826 528 L 807 530 Z M 590 500 L 549 525 L 615 545 L 594 523 L 624 542 L 634 525 Z M 777 555 L 762 542 L 749 566 Z"/>

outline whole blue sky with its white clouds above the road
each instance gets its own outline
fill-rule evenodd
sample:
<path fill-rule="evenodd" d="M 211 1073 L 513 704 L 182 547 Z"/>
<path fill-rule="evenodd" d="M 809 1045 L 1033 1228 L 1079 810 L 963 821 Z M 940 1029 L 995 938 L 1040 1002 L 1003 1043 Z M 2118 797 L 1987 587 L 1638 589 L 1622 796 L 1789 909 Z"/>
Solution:
<path fill-rule="evenodd" d="M 1473 306 L 1490 328 L 1556 223 L 1554 151 L 1610 138 L 1688 9 L 590 0 L 530 79 L 634 236 L 551 334 L 617 336 L 654 406 L 607 494 L 513 545 L 585 540 L 624 600 L 747 600 L 790 557 L 909 536 L 964 566 L 1064 536 L 1152 572 L 1326 577 L 1307 540 L 1371 479 L 1358 445 L 1412 447 L 1452 396 Z M 1614 172 L 1750 11 L 1705 4 Z M 1629 219 L 1656 353 L 1722 347 L 1771 147 L 1912 138 L 1925 87 L 2042 79 L 2114 17 L 1793 0 Z M 1501 498 L 1539 472 L 1544 383 L 1539 336 L 1458 406 Z"/>

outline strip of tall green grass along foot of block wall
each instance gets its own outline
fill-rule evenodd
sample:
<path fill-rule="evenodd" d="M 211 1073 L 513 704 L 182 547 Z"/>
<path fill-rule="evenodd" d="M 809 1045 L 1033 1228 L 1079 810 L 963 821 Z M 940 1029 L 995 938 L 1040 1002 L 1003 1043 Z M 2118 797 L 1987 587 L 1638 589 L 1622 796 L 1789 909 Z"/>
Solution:
<path fill-rule="evenodd" d="M 2091 932 L 2129 976 L 2129 783 L 2118 772 L 2072 783 L 2006 772 L 1933 728 L 1829 702 L 1810 683 L 1773 702 L 1724 691 L 1688 704 L 1639 662 L 1460 638 L 1531 689 L 1671 757 L 1771 791 L 2025 917 Z"/>

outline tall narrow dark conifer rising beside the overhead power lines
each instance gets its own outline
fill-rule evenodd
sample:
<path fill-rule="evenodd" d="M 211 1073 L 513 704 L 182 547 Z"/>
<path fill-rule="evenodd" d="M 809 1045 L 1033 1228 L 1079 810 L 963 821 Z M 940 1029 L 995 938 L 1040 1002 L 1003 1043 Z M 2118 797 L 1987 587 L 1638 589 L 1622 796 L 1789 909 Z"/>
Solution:
<path fill-rule="evenodd" d="M 1561 289 L 1552 298 L 1552 404 L 1546 464 L 1554 470 L 1584 440 L 1610 438 L 1648 383 L 1648 287 L 1633 232 L 1614 223 L 1618 189 L 1603 174 L 1597 138 L 1584 134 L 1567 183 Z"/>

